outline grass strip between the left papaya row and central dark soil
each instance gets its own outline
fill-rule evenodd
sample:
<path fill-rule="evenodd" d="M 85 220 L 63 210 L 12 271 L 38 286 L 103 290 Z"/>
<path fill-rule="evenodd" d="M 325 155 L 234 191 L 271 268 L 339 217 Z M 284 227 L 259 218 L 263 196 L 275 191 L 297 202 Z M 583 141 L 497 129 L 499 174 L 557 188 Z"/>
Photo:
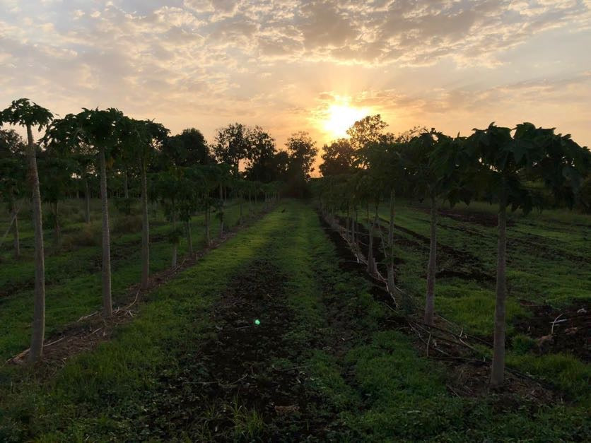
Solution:
<path fill-rule="evenodd" d="M 162 389 L 160 374 L 179 370 L 175 349 L 205 333 L 216 295 L 280 224 L 281 217 L 271 215 L 211 251 L 153 291 L 136 320 L 112 341 L 69 360 L 46 384 L 38 385 L 33 371 L 2 368 L 0 440 L 78 440 L 89 432 L 109 439 L 136 432 L 133 423 L 148 415 L 146 395 Z"/>

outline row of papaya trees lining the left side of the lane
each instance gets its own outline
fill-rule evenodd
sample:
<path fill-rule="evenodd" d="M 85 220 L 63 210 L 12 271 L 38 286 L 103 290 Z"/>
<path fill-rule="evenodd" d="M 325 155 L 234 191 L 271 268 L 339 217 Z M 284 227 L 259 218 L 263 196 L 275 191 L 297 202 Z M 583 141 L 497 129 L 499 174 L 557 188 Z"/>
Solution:
<path fill-rule="evenodd" d="M 18 241 L 18 209 L 16 201 L 30 191 L 33 215 L 35 249 L 34 312 L 29 361 L 42 358 L 45 338 L 45 252 L 42 226 L 42 201 L 51 203 L 55 237 L 59 238 L 58 203 L 69 194 L 71 184 L 84 183 L 86 194 L 86 223 L 90 223 L 89 182 L 98 177 L 102 213 L 102 299 L 103 316 L 113 312 L 111 293 L 111 253 L 109 187 L 107 171 L 113 163 L 125 165 L 124 200 L 129 203 L 127 187 L 128 170 L 134 167 L 139 182 L 141 206 L 141 288 L 148 287 L 149 278 L 149 220 L 148 201 L 157 201 L 172 223 L 169 240 L 172 242 L 172 265 L 177 261 L 177 244 L 182 236 L 180 223 L 185 228 L 189 254 L 193 254 L 190 220 L 197 211 L 205 215 L 206 243 L 211 244 L 211 215 L 215 213 L 220 223 L 220 236 L 224 232 L 224 206 L 228 189 L 238 197 L 242 223 L 242 202 L 254 201 L 264 196 L 265 201 L 279 198 L 281 182 L 247 181 L 242 179 L 234 165 L 216 163 L 214 159 L 203 162 L 175 161 L 175 155 L 163 152 L 170 142 L 169 131 L 162 124 L 151 120 L 127 117 L 115 108 L 107 110 L 83 109 L 78 114 L 55 118 L 52 112 L 28 99 L 15 100 L 0 113 L 1 124 L 24 126 L 27 143 L 24 155 L 13 149 L 10 155 L 1 155 L 0 194 L 10 206 L 10 225 L 15 232 L 15 254 L 20 254 Z M 35 142 L 33 129 L 42 133 Z M 18 141 L 14 132 L 3 134 Z M 8 134 L 8 135 L 7 135 Z M 8 141 L 10 142 L 10 141 Z M 230 143 L 231 145 L 231 143 Z M 8 143 L 8 146 L 16 144 Z M 166 145 L 170 148 L 170 143 Z M 41 149 L 41 147 L 43 149 Z M 229 146 L 228 149 L 232 148 Z M 37 160 L 42 165 L 44 186 L 40 186 Z M 26 166 L 24 164 L 26 162 Z M 43 195 L 42 195 L 43 191 Z M 9 228 L 10 229 L 10 228 Z"/>

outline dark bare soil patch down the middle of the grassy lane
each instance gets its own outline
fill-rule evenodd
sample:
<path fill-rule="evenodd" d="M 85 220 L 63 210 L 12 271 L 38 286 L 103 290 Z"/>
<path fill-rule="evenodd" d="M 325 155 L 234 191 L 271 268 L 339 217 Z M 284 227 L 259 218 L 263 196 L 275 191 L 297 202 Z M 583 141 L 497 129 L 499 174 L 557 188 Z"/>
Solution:
<path fill-rule="evenodd" d="M 284 281 L 265 259 L 234 278 L 213 308 L 212 338 L 196 337 L 180 350 L 182 374 L 161 377 L 168 389 L 156 398 L 152 436 L 185 430 L 192 439 L 301 441 L 337 431 L 335 415 L 306 387 Z"/>

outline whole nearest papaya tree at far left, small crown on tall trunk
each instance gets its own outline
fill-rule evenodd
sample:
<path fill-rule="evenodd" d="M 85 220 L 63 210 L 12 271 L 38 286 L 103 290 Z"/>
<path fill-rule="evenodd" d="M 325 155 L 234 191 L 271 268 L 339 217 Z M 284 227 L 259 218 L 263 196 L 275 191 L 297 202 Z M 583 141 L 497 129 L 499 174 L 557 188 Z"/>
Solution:
<path fill-rule="evenodd" d="M 52 122 L 53 114 L 45 107 L 21 98 L 11 103 L 0 114 L 2 122 L 25 126 L 27 130 L 28 177 L 33 191 L 33 227 L 35 229 L 35 304 L 33 308 L 33 333 L 29 352 L 29 361 L 34 363 L 42 358 L 45 338 L 45 256 L 43 249 L 43 222 L 41 212 L 41 194 L 39 174 L 37 172 L 37 146 L 33 140 L 33 127 L 40 131 Z"/>

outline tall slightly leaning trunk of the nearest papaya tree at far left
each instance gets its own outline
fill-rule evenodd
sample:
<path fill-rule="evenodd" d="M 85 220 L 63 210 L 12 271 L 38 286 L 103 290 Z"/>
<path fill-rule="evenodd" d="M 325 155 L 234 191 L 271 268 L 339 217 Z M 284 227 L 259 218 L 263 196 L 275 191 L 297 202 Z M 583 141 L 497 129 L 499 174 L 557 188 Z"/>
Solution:
<path fill-rule="evenodd" d="M 30 125 L 27 125 L 27 138 L 29 179 L 33 188 L 33 227 L 35 228 L 35 299 L 33 305 L 33 331 L 29 352 L 29 361 L 34 363 L 42 358 L 43 340 L 45 338 L 45 256 L 43 251 L 43 225 L 37 153 L 35 153 L 33 131 Z"/>

